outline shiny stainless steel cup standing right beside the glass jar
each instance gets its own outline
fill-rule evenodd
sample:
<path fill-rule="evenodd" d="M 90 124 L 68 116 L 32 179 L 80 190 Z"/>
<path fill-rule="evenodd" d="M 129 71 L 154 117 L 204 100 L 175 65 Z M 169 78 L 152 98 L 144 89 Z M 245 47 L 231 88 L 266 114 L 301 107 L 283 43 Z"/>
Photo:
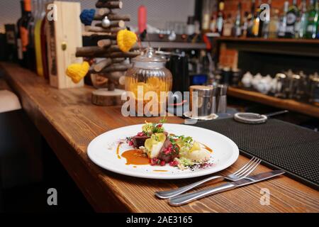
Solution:
<path fill-rule="evenodd" d="M 214 88 L 209 86 L 191 86 L 189 87 L 189 91 L 191 94 L 190 109 L 193 116 L 210 116 L 213 109 Z M 194 101 L 196 101 L 196 96 L 197 102 L 194 103 Z"/>

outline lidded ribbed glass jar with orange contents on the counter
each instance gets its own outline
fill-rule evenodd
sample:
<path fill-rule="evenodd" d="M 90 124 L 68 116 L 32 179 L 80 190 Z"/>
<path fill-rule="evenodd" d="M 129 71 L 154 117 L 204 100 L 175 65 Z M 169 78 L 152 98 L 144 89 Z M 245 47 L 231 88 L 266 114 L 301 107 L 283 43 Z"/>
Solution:
<path fill-rule="evenodd" d="M 125 91 L 134 94 L 138 114 L 141 114 L 138 106 L 142 106 L 143 115 L 158 116 L 166 110 L 167 95 L 172 90 L 172 73 L 165 67 L 167 60 L 153 48 L 147 48 L 144 55 L 135 57 L 132 62 L 133 67 L 125 74 Z M 151 103 L 150 109 L 145 110 Z"/>

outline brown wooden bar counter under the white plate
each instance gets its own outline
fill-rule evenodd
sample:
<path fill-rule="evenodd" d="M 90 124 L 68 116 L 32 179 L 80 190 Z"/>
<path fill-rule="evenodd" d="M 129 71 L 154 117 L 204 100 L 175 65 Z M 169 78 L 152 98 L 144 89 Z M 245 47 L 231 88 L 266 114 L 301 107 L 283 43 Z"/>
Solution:
<path fill-rule="evenodd" d="M 319 192 L 289 177 L 277 177 L 172 207 L 155 198 L 158 190 L 181 187 L 194 182 L 184 180 L 138 179 L 117 175 L 94 165 L 86 148 L 97 135 L 113 128 L 159 118 L 123 117 L 121 106 L 100 107 L 91 104 L 89 87 L 58 90 L 45 79 L 11 63 L 0 63 L 6 81 L 21 99 L 26 114 L 43 135 L 69 175 L 77 183 L 96 211 L 106 212 L 319 212 Z M 169 117 L 169 123 L 183 119 Z M 28 133 L 28 132 L 26 132 Z M 235 164 L 222 172 L 228 174 L 247 162 L 240 155 Z M 269 171 L 260 165 L 256 172 Z M 210 183 L 211 185 L 211 183 Z M 206 185 L 207 187 L 207 185 Z M 270 205 L 262 206 L 260 190 L 271 193 Z"/>

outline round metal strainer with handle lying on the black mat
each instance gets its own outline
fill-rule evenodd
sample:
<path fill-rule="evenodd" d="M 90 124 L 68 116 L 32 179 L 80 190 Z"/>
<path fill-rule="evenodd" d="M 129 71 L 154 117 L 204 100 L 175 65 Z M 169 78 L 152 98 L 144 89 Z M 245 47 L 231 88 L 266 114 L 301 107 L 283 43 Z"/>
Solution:
<path fill-rule="evenodd" d="M 242 123 L 265 123 L 267 119 L 271 116 L 276 116 L 279 114 L 286 114 L 289 111 L 278 111 L 272 114 L 254 114 L 254 113 L 237 113 L 234 115 L 235 121 L 239 121 Z"/>

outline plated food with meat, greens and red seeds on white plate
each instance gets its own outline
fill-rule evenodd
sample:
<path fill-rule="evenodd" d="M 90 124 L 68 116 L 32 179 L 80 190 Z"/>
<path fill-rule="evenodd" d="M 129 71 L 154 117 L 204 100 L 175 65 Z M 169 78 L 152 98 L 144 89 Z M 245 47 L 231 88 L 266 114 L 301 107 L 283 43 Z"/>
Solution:
<path fill-rule="evenodd" d="M 170 165 L 186 169 L 195 165 L 207 166 L 212 150 L 190 136 L 173 135 L 164 129 L 164 121 L 145 122 L 142 131 L 127 138 L 128 145 L 141 151 L 150 165 Z"/>

